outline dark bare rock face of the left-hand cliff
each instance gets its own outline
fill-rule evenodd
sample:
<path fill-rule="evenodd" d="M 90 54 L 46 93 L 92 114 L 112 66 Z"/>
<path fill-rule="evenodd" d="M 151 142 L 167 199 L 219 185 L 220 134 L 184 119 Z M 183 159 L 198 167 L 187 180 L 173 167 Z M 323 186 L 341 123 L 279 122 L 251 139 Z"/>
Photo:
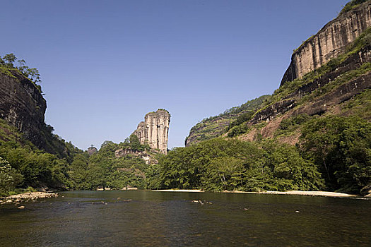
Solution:
<path fill-rule="evenodd" d="M 16 126 L 37 147 L 44 147 L 42 127 L 47 102 L 40 90 L 22 74 L 12 76 L 0 73 L 0 117 Z"/>

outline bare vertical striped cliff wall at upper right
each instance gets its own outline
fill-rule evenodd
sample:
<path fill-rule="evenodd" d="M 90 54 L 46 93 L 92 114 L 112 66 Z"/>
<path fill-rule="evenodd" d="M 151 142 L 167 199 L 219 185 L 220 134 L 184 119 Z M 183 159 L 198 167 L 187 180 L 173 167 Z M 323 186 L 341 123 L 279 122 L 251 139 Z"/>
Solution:
<path fill-rule="evenodd" d="M 371 1 L 353 8 L 327 23 L 316 35 L 306 40 L 291 56 L 291 63 L 283 75 L 281 85 L 301 78 L 346 52 L 364 30 L 371 26 Z"/>

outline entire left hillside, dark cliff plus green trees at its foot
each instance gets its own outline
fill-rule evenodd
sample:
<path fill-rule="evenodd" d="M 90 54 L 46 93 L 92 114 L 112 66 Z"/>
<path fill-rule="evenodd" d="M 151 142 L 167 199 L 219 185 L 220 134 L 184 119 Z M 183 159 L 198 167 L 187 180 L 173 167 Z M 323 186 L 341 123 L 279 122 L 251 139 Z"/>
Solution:
<path fill-rule="evenodd" d="M 66 189 L 69 164 L 82 152 L 52 132 L 44 122 L 47 103 L 38 72 L 13 66 L 16 56 L 0 57 L 0 196 L 28 186 Z M 31 73 L 37 76 L 33 80 Z"/>

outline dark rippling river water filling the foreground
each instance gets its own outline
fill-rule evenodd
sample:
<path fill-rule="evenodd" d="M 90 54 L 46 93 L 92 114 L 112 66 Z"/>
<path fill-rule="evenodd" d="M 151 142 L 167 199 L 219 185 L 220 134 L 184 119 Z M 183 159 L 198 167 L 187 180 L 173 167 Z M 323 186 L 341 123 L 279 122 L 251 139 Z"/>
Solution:
<path fill-rule="evenodd" d="M 370 246 L 370 209 L 371 200 L 299 195 L 76 191 L 25 203 L 24 210 L 1 205 L 0 243 Z"/>

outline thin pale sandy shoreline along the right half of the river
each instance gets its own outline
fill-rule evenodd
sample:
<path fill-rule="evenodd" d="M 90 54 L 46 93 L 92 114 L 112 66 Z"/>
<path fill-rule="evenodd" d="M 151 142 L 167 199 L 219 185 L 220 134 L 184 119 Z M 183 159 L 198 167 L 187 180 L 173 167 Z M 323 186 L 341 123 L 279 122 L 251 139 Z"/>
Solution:
<path fill-rule="evenodd" d="M 167 190 L 152 190 L 158 192 L 205 192 L 199 189 L 167 189 Z M 270 194 L 270 195 L 311 195 L 311 196 L 326 196 L 332 198 L 363 198 L 360 195 L 338 193 L 331 191 L 261 191 L 261 192 L 252 192 L 252 191 L 222 191 L 221 193 L 247 193 L 247 194 Z"/>

